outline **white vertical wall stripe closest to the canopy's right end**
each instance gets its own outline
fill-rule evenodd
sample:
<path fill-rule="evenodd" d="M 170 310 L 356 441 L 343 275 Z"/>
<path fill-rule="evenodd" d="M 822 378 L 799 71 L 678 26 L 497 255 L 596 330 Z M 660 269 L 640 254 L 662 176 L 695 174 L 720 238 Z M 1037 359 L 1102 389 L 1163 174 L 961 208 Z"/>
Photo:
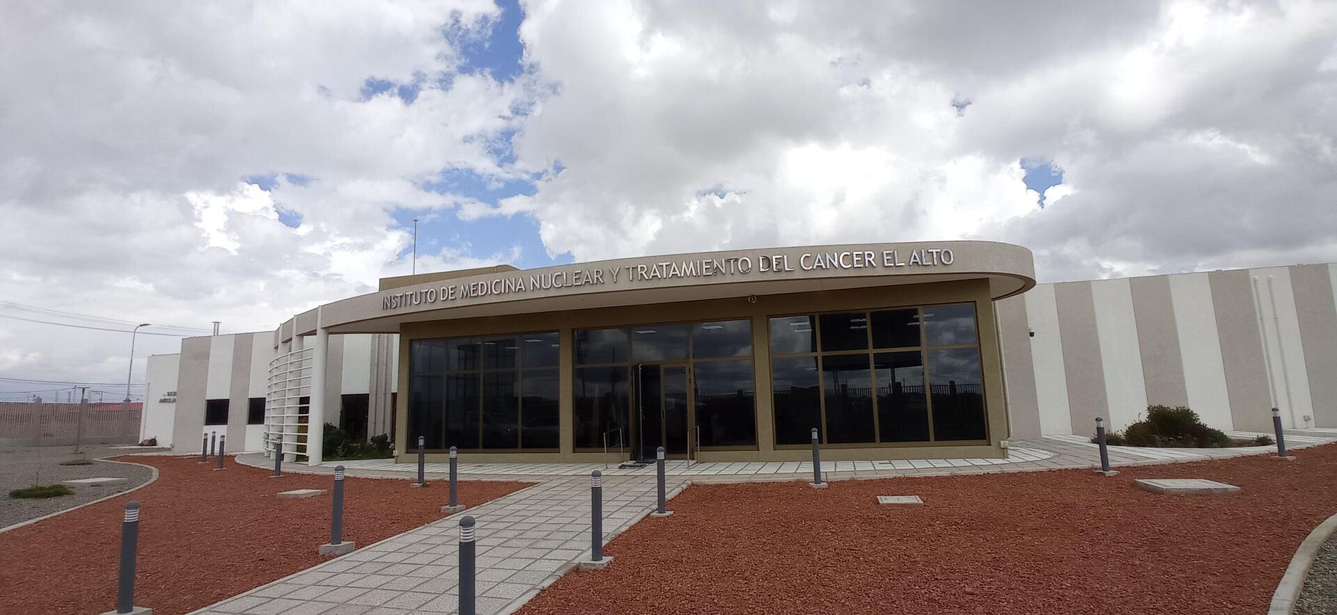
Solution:
<path fill-rule="evenodd" d="M 1025 313 L 1035 330 L 1031 357 L 1035 365 L 1035 397 L 1040 408 L 1042 433 L 1072 433 L 1068 408 L 1068 380 L 1063 369 L 1063 338 L 1059 337 L 1059 308 L 1054 285 L 1043 283 L 1023 294 Z"/>

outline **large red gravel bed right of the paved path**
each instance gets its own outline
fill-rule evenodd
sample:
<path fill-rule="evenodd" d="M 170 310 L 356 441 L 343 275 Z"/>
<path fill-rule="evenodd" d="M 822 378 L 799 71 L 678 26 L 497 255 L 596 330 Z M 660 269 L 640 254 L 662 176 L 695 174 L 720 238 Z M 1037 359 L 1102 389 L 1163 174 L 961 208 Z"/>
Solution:
<path fill-rule="evenodd" d="M 1296 548 L 1337 512 L 1337 445 L 1091 471 L 694 485 L 520 612 L 1266 612 Z M 1134 479 L 1201 477 L 1229 496 Z M 880 507 L 920 495 L 924 507 Z"/>

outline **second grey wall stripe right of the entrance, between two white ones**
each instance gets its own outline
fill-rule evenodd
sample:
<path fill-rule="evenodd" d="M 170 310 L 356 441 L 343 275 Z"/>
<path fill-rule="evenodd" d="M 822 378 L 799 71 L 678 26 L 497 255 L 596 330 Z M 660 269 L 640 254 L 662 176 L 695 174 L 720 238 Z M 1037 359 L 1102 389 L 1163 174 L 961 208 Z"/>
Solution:
<path fill-rule="evenodd" d="M 1056 283 L 1054 299 L 1059 309 L 1072 433 L 1095 433 L 1095 418 L 1110 416 L 1110 400 L 1104 392 L 1104 365 L 1100 358 L 1100 336 L 1095 326 L 1091 282 Z"/>

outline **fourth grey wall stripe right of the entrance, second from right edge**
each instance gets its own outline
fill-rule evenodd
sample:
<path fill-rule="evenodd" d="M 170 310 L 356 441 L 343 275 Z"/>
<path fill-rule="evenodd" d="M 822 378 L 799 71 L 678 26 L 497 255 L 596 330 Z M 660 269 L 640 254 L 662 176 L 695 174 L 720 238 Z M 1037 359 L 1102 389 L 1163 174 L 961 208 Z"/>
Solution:
<path fill-rule="evenodd" d="M 1258 337 L 1258 310 L 1253 281 L 1246 270 L 1211 271 L 1211 303 L 1217 310 L 1217 337 L 1226 370 L 1226 394 L 1235 429 L 1271 432 L 1271 400 L 1267 397 L 1267 366 Z"/>

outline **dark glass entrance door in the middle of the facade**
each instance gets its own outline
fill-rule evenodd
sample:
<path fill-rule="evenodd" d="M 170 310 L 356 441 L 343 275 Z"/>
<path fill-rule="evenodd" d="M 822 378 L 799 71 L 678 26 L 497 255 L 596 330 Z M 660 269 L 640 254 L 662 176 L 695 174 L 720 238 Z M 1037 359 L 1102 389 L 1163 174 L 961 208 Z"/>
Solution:
<path fill-rule="evenodd" d="M 659 447 L 664 448 L 667 457 L 689 457 L 689 392 L 686 364 L 636 365 L 636 459 L 654 461 Z"/>

